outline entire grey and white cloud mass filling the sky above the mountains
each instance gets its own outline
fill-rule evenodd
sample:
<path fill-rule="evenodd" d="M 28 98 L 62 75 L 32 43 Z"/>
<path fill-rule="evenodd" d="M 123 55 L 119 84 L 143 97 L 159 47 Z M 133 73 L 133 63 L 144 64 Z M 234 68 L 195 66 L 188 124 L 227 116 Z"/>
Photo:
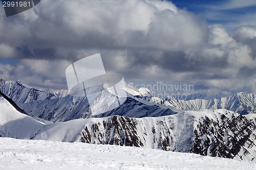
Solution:
<path fill-rule="evenodd" d="M 19 60 L 0 65 L 0 76 L 65 89 L 66 67 L 101 53 L 105 69 L 127 81 L 256 93 L 254 33 L 244 26 L 231 36 L 167 1 L 45 0 L 20 15 L 0 13 L 0 57 Z"/>

